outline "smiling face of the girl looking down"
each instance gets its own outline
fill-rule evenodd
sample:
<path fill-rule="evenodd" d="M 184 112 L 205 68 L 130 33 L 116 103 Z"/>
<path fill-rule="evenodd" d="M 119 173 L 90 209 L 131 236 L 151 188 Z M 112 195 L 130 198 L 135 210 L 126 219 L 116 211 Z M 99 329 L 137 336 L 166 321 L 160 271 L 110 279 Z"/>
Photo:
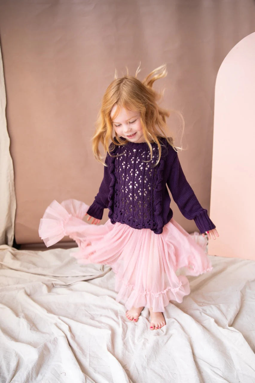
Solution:
<path fill-rule="evenodd" d="M 113 128 L 119 137 L 126 138 L 131 142 L 145 142 L 142 133 L 140 112 L 121 108 L 118 115 L 113 120 L 113 115 L 117 109 L 115 104 L 111 110 L 110 116 L 113 121 Z"/>

